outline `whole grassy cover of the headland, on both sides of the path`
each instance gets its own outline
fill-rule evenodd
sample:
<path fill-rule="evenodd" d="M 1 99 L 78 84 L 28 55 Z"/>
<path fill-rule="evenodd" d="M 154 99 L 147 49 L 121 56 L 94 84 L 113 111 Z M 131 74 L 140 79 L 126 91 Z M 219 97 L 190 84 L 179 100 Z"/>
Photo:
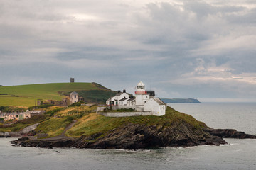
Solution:
<path fill-rule="evenodd" d="M 36 132 L 48 133 L 48 137 L 58 136 L 60 135 L 65 127 L 71 123 L 72 119 L 78 120 L 73 128 L 68 130 L 65 135 L 72 137 L 80 137 L 81 135 L 92 135 L 95 133 L 102 133 L 104 135 L 105 132 L 117 128 L 121 125 L 125 125 L 127 123 L 138 123 L 145 125 L 164 125 L 169 126 L 172 122 L 181 122 L 186 121 L 190 123 L 196 128 L 205 127 L 204 123 L 197 121 L 191 115 L 186 115 L 184 113 L 179 113 L 178 111 L 174 111 L 172 108 L 167 108 L 166 115 L 164 116 L 134 116 L 134 117 L 124 117 L 124 118 L 110 118 L 102 115 L 98 115 L 96 113 L 87 112 L 95 110 L 97 106 L 76 106 L 63 108 L 61 111 L 56 112 L 54 115 L 61 115 L 60 118 L 50 117 L 50 115 L 46 114 L 45 118 L 41 118 L 40 120 L 21 120 L 23 122 L 18 122 L 16 125 L 12 125 L 9 128 L 1 128 L 0 132 L 8 132 L 21 130 L 28 125 L 33 123 L 41 122 L 36 128 Z M 53 107 L 52 109 L 55 109 Z M 82 113 L 81 113 L 82 112 Z M 68 113 L 75 113 L 67 115 Z M 24 123 L 25 121 L 25 123 Z M 26 122 L 27 121 L 27 122 Z"/>

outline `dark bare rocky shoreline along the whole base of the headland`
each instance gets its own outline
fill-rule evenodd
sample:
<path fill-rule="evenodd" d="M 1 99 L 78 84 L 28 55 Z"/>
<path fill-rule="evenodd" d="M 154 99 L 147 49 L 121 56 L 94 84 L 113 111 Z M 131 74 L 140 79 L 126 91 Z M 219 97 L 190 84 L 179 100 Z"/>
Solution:
<path fill-rule="evenodd" d="M 191 147 L 197 145 L 223 145 L 226 138 L 251 138 L 248 135 L 232 129 L 195 128 L 182 121 L 169 126 L 140 125 L 128 123 L 114 128 L 107 134 L 97 133 L 90 136 L 53 137 L 43 140 L 29 140 L 22 137 L 11 141 L 13 146 L 22 147 L 75 147 L 92 149 L 146 149 L 159 147 Z"/>

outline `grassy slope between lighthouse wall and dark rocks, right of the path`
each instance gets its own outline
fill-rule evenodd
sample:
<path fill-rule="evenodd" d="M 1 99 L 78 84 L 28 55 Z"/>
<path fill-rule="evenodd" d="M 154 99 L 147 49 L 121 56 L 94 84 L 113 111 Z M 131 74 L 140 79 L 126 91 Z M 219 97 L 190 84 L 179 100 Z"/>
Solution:
<path fill-rule="evenodd" d="M 179 113 L 172 108 L 167 108 L 164 116 L 134 116 L 124 118 L 110 118 L 95 113 L 88 113 L 78 120 L 73 128 L 68 130 L 66 135 L 79 137 L 80 135 L 92 135 L 95 133 L 105 133 L 109 130 L 119 127 L 127 123 L 138 123 L 145 125 L 164 125 L 169 126 L 172 122 L 186 121 L 196 128 L 202 128 L 206 125 L 197 121 L 191 115 Z"/>

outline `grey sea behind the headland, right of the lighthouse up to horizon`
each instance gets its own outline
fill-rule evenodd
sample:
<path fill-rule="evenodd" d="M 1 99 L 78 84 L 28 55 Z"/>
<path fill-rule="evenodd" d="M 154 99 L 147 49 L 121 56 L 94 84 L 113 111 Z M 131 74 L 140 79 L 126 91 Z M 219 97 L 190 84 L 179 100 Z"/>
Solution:
<path fill-rule="evenodd" d="M 230 128 L 256 135 L 256 103 L 169 103 L 210 128 Z"/>

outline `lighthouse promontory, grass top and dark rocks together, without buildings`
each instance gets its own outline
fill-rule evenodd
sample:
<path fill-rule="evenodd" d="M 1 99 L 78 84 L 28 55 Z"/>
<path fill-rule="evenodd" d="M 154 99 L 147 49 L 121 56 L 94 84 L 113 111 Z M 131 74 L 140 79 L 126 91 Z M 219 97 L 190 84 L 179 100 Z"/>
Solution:
<path fill-rule="evenodd" d="M 223 137 L 256 138 L 236 130 L 209 128 L 191 115 L 179 113 L 172 108 L 167 108 L 164 116 L 107 118 L 90 113 L 78 120 L 65 134 L 81 135 L 63 135 L 42 140 L 29 140 L 25 137 L 11 143 L 23 147 L 144 149 L 226 144 Z"/>

